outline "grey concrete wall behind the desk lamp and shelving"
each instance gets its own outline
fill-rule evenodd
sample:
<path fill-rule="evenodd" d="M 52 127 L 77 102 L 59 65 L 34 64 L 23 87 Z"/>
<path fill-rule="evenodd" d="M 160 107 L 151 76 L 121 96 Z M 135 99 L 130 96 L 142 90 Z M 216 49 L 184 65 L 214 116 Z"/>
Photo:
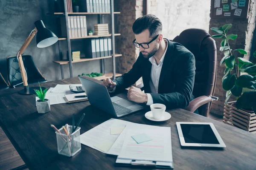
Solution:
<path fill-rule="evenodd" d="M 43 20 L 45 26 L 57 34 L 54 0 L 0 0 L 0 72 L 7 80 L 6 58 L 15 56 L 33 28 L 34 22 Z M 82 42 L 81 42 L 82 43 Z M 61 51 L 66 55 L 67 41 L 62 40 Z M 73 45 L 73 44 L 72 44 Z M 37 48 L 35 37 L 24 51 L 33 57 L 35 64 L 48 81 L 61 79 L 58 43 Z M 65 56 L 64 56 L 65 57 Z M 73 76 L 81 73 L 100 72 L 99 60 L 73 64 Z M 105 72 L 112 71 L 112 60 L 105 59 Z M 64 65 L 64 77 L 70 77 L 69 66 Z"/>

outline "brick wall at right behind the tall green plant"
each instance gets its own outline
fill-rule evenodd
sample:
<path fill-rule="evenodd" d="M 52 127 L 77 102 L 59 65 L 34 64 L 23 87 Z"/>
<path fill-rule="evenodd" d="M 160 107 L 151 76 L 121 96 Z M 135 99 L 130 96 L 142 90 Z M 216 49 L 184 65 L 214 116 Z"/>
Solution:
<path fill-rule="evenodd" d="M 231 23 L 232 27 L 227 32 L 228 34 L 237 34 L 238 37 L 236 40 L 231 40 L 230 46 L 232 49 L 242 48 L 245 49 L 249 54 L 245 55 L 244 58 L 248 60 L 253 60 L 252 52 L 255 51 L 255 45 L 253 45 L 253 33 L 255 32 L 256 26 L 256 0 L 250 1 L 249 17 L 248 19 L 211 19 L 209 28 L 220 27 L 227 23 Z M 209 34 L 215 34 L 212 31 L 209 31 Z M 255 36 L 255 35 L 254 35 Z M 217 82 L 215 88 L 215 96 L 219 97 L 218 101 L 212 103 L 211 113 L 218 115 L 223 114 L 224 101 L 226 99 L 226 91 L 222 88 L 222 77 L 224 76 L 225 66 L 220 65 L 223 53 L 219 51 L 220 48 L 220 39 L 215 39 L 217 45 L 217 57 L 218 57 L 218 72 L 217 72 Z M 230 101 L 236 100 L 234 97 Z"/>

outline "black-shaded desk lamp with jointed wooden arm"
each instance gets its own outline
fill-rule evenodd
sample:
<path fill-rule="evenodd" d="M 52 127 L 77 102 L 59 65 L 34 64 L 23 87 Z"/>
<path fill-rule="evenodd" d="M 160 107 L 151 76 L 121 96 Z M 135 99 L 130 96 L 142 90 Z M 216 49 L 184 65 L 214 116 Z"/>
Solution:
<path fill-rule="evenodd" d="M 37 33 L 36 46 L 38 48 L 48 47 L 58 41 L 58 37 L 52 31 L 45 28 L 42 20 L 38 20 L 35 22 L 35 28 L 31 31 L 26 41 L 23 43 L 19 52 L 17 53 L 17 59 L 20 67 L 20 74 L 21 74 L 23 86 L 24 86 L 24 89 L 19 91 L 20 94 L 35 94 L 35 89 L 40 90 L 40 87 L 29 88 L 29 85 L 27 82 L 26 70 L 24 68 L 23 60 L 21 56 L 21 54 L 23 54 L 23 52 L 25 51 L 25 49 L 27 48 L 27 46 L 29 45 L 29 43 L 31 42 L 31 40 L 33 39 L 36 33 Z M 44 90 L 44 88 L 42 88 L 42 90 Z"/>

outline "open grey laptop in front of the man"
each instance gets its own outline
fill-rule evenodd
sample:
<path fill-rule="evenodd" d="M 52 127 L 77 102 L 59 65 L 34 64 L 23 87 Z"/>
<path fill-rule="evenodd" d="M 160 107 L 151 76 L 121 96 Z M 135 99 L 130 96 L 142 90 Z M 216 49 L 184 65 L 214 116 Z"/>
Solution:
<path fill-rule="evenodd" d="M 79 79 L 90 104 L 114 117 L 122 117 L 143 109 L 143 106 L 121 97 L 110 97 L 108 89 L 104 85 L 83 77 L 79 77 Z"/>

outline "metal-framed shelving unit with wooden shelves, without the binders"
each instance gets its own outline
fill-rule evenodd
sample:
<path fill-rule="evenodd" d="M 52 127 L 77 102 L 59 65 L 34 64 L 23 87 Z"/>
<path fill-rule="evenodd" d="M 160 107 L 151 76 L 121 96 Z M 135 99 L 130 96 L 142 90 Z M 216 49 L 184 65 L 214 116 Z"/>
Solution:
<path fill-rule="evenodd" d="M 70 68 L 70 77 L 73 77 L 73 63 L 76 62 L 87 62 L 87 61 L 92 61 L 92 60 L 98 60 L 100 59 L 101 61 L 103 61 L 104 63 L 104 59 L 107 58 L 112 58 L 112 63 L 113 63 L 113 73 L 106 73 L 101 77 L 94 77 L 96 79 L 105 79 L 105 78 L 113 78 L 115 79 L 118 76 L 121 76 L 121 74 L 116 73 L 116 63 L 115 63 L 115 57 L 121 57 L 122 54 L 115 54 L 115 36 L 119 36 L 121 34 L 115 34 L 114 31 L 114 14 L 120 14 L 120 12 L 114 12 L 114 3 L 113 0 L 110 1 L 111 3 L 111 12 L 76 12 L 76 13 L 70 13 L 67 12 L 67 0 L 64 0 L 64 12 L 55 12 L 54 15 L 64 15 L 65 17 L 65 24 L 66 24 L 66 32 L 67 32 L 67 37 L 63 36 L 61 38 L 59 38 L 58 40 L 67 40 L 67 51 L 68 51 L 68 56 L 69 58 L 67 60 L 61 60 L 61 56 L 60 56 L 60 60 L 58 61 L 53 61 L 56 64 L 60 65 L 61 68 L 61 78 L 64 79 L 64 70 L 63 70 L 63 65 L 68 64 L 69 68 Z M 91 15 L 91 14 L 110 14 L 111 15 L 111 30 L 112 30 L 112 34 L 106 34 L 106 35 L 93 35 L 93 36 L 86 36 L 86 37 L 70 37 L 71 35 L 69 35 L 69 30 L 68 30 L 68 16 L 72 16 L 72 15 Z M 99 20 L 99 17 L 98 17 Z M 99 23 L 102 23 L 102 20 L 98 21 Z M 85 38 L 99 38 L 99 37 L 111 37 L 112 40 L 112 55 L 111 56 L 105 56 L 105 57 L 97 57 L 97 58 L 81 58 L 80 60 L 77 61 L 72 61 L 72 54 L 71 54 L 71 41 L 70 40 L 79 40 L 79 39 L 85 39 Z M 60 42 L 58 42 L 58 48 L 59 48 L 59 53 L 61 54 L 61 49 L 60 49 Z M 104 65 L 104 64 L 103 64 Z M 103 69 L 103 73 L 105 73 L 105 67 Z"/>

